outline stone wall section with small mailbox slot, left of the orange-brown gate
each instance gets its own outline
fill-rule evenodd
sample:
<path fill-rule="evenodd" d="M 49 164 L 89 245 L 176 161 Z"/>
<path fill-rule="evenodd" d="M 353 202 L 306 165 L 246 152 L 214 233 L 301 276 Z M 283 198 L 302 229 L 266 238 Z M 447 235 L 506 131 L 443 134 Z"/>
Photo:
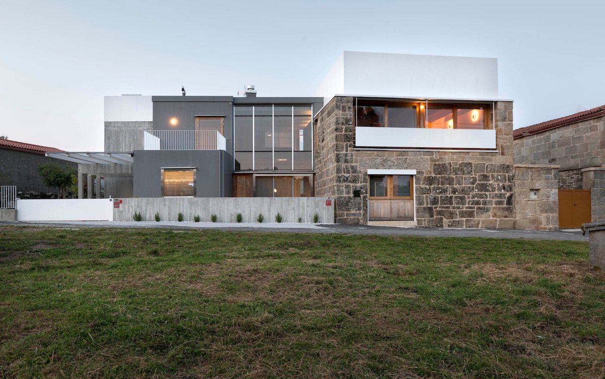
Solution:
<path fill-rule="evenodd" d="M 515 164 L 515 229 L 559 228 L 558 168 L 548 164 Z M 531 190 L 537 190 L 537 198 L 530 198 Z"/>

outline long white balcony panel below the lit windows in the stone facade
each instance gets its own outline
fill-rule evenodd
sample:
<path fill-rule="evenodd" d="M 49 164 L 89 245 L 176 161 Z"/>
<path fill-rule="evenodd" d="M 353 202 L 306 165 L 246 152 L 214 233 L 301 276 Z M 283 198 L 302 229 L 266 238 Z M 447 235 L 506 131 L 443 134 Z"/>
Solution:
<path fill-rule="evenodd" d="M 355 128 L 356 147 L 495 149 L 495 130 Z"/>

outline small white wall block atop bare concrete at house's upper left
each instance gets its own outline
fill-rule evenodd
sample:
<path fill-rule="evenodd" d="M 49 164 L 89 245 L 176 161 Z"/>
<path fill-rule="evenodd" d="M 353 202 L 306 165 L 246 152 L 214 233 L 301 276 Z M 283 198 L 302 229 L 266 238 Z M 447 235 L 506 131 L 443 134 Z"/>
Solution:
<path fill-rule="evenodd" d="M 105 122 L 153 121 L 151 96 L 105 96 Z"/>

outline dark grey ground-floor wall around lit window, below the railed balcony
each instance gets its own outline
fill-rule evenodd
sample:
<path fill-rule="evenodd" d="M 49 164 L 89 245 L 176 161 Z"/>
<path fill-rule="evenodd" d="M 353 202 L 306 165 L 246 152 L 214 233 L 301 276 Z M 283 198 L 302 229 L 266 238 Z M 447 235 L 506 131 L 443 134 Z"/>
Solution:
<path fill-rule="evenodd" d="M 220 166 L 222 157 L 223 164 Z M 231 181 L 231 155 L 215 150 L 135 151 L 134 196 L 157 198 L 162 196 L 162 167 L 195 167 L 196 196 L 220 197 L 227 193 L 226 179 Z M 228 167 L 228 168 L 227 168 Z M 232 184 L 229 185 L 232 187 Z M 232 191 L 232 189 L 230 189 Z"/>

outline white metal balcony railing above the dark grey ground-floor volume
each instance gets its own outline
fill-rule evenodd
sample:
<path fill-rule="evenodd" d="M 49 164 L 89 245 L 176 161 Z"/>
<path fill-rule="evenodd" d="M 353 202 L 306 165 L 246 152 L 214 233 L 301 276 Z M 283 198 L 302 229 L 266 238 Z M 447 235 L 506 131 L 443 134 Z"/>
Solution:
<path fill-rule="evenodd" d="M 218 131 L 145 131 L 145 150 L 226 150 Z"/>

